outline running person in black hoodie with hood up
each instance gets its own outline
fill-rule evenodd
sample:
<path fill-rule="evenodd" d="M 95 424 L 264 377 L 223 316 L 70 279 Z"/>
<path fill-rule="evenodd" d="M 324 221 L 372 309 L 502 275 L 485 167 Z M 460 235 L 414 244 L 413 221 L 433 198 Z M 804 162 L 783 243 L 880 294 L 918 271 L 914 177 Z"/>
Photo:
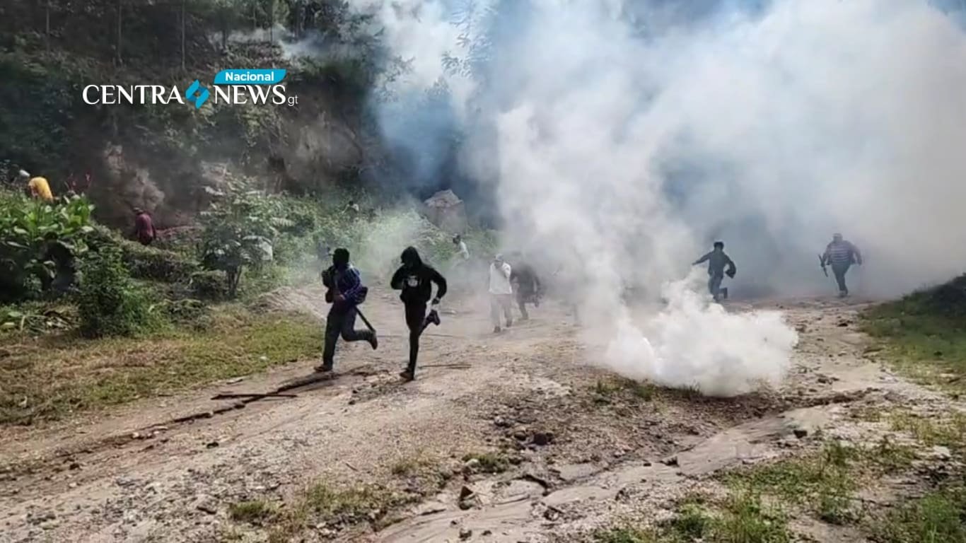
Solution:
<path fill-rule="evenodd" d="M 412 381 L 415 379 L 416 357 L 419 355 L 419 335 L 430 323 L 440 324 L 440 314 L 435 309 L 426 315 L 426 302 L 433 298 L 433 283 L 436 283 L 433 305 L 440 303 L 446 295 L 446 279 L 419 258 L 415 247 L 406 247 L 400 260 L 403 265 L 392 274 L 390 285 L 402 291 L 399 300 L 403 300 L 406 326 L 410 329 L 410 364 L 399 375 L 406 381 Z"/>

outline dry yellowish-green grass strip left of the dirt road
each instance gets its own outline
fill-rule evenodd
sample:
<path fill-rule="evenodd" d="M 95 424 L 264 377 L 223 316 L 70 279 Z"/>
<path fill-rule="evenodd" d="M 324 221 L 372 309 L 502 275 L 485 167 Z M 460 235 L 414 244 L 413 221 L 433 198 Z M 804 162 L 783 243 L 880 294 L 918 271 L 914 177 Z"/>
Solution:
<path fill-rule="evenodd" d="M 18 338 L 2 346 L 0 424 L 31 424 L 262 371 L 321 349 L 308 316 L 223 306 L 202 331 Z"/>

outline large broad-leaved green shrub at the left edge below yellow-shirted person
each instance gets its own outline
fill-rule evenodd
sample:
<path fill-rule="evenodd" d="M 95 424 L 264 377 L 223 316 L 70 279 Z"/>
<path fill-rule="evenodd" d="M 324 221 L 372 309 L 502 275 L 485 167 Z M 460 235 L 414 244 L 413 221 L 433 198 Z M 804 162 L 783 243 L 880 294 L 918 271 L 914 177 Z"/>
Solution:
<path fill-rule="evenodd" d="M 23 300 L 33 285 L 54 277 L 54 263 L 44 258 L 48 242 L 63 243 L 76 257 L 92 234 L 92 206 L 84 198 L 50 204 L 14 193 L 0 194 L 0 300 Z"/>

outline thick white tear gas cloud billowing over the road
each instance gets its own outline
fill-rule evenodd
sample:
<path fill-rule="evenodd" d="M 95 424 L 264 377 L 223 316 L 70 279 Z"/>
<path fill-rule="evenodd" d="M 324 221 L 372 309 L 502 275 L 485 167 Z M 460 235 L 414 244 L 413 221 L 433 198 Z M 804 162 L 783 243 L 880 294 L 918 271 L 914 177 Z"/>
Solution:
<path fill-rule="evenodd" d="M 588 340 L 607 345 L 601 362 L 615 370 L 715 395 L 781 378 L 797 338 L 778 314 L 728 314 L 697 294 L 695 272 L 681 282 L 717 239 L 738 265 L 732 292 L 834 292 L 816 257 L 833 232 L 863 249 L 857 293 L 895 296 L 962 272 L 966 34 L 934 3 L 493 0 L 469 11 L 487 15 L 460 16 L 484 25 L 462 40 L 479 47 L 462 49 L 469 83 L 451 100 L 464 167 L 493 184 L 506 243 L 564 266 Z M 387 26 L 410 28 L 395 42 L 404 56 L 461 50 L 440 30 L 452 16 L 393 17 Z M 424 72 L 406 84 L 435 83 Z M 632 318 L 628 285 L 667 307 Z"/>

